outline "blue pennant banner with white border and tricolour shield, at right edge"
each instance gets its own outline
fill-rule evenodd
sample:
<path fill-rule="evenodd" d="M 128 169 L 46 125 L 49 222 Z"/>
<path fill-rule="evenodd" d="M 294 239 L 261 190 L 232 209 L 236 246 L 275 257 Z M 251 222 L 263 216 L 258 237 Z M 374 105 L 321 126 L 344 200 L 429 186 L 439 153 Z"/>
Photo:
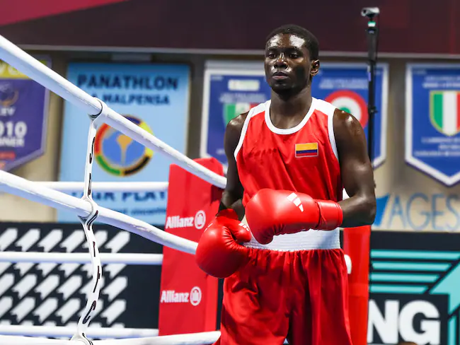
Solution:
<path fill-rule="evenodd" d="M 460 181 L 459 132 L 460 64 L 408 64 L 406 162 L 444 185 L 455 185 Z"/>

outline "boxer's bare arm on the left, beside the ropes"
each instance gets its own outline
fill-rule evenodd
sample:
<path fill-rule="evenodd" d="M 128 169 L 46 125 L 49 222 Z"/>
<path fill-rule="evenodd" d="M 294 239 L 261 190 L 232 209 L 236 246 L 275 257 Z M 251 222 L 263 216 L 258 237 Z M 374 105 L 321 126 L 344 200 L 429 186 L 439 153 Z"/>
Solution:
<path fill-rule="evenodd" d="M 224 148 L 229 167 L 226 175 L 226 187 L 222 194 L 222 199 L 219 206 L 219 211 L 222 209 L 234 209 L 240 220 L 244 216 L 243 185 L 241 185 L 241 181 L 238 176 L 238 169 L 236 168 L 234 153 L 236 146 L 238 146 L 241 129 L 243 129 L 244 120 L 246 119 L 247 115 L 247 112 L 238 115 L 234 119 L 231 119 L 229 124 L 226 126 Z"/>

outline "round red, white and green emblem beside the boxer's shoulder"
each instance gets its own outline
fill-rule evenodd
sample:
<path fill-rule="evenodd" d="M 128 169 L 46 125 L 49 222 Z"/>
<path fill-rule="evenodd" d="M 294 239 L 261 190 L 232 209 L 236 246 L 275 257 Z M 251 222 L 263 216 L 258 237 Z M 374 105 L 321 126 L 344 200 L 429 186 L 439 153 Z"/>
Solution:
<path fill-rule="evenodd" d="M 338 90 L 328 95 L 325 100 L 356 117 L 363 128 L 367 126 L 369 119 L 367 103 L 358 93 L 350 90 Z"/>

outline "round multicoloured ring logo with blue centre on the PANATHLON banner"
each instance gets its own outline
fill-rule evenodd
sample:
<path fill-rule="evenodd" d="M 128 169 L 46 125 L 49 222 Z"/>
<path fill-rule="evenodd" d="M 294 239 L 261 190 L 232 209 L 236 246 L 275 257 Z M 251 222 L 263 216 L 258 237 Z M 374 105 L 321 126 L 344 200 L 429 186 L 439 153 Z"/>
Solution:
<path fill-rule="evenodd" d="M 132 115 L 124 115 L 134 124 L 153 134 L 148 124 Z M 94 156 L 103 170 L 116 176 L 133 175 L 149 163 L 154 152 L 129 136 L 103 124 L 94 143 Z"/>

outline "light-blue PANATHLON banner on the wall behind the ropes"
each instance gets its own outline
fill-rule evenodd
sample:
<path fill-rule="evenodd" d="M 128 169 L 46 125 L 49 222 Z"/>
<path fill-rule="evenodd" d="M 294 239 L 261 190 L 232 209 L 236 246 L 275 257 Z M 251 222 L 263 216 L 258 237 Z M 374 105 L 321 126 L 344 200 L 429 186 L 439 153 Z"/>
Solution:
<path fill-rule="evenodd" d="M 69 64 L 67 78 L 90 95 L 185 153 L 190 69 L 176 64 Z M 59 180 L 84 179 L 89 119 L 65 103 Z M 101 124 L 94 148 L 93 182 L 166 182 L 172 160 Z M 81 192 L 74 192 L 77 197 Z M 93 192 L 100 206 L 151 224 L 164 224 L 166 192 Z M 75 215 L 58 212 L 59 222 Z"/>

